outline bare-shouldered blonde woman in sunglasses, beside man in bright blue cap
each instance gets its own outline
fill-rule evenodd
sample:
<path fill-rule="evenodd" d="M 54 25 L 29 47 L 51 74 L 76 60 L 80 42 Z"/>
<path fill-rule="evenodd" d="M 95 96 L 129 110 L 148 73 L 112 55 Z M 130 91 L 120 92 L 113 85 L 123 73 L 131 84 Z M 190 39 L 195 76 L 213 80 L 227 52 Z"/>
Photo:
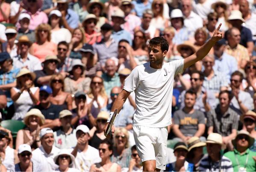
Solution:
<path fill-rule="evenodd" d="M 64 92 L 64 78 L 61 74 L 52 75 L 50 79 L 50 87 L 53 90 L 50 102 L 62 106 L 63 109 L 71 110 L 72 96 L 70 93 Z"/>

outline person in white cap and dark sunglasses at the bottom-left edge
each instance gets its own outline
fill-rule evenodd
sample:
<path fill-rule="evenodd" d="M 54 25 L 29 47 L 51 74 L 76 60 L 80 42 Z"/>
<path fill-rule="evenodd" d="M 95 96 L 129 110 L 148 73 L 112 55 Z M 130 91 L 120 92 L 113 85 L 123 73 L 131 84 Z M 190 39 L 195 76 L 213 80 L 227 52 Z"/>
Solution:
<path fill-rule="evenodd" d="M 21 144 L 18 147 L 18 157 L 20 162 L 15 164 L 15 172 L 41 172 L 44 170 L 41 162 L 32 161 L 32 150 L 28 144 Z"/>

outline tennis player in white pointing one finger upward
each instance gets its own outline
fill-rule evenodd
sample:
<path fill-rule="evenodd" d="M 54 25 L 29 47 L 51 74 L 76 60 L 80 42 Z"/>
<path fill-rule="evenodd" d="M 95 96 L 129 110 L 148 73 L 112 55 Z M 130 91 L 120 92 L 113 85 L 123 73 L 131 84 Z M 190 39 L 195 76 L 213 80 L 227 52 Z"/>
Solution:
<path fill-rule="evenodd" d="M 218 26 L 213 37 L 195 54 L 169 63 L 164 62 L 168 42 L 154 37 L 149 42 L 149 62 L 135 67 L 126 78 L 124 89 L 115 100 L 108 123 L 117 109 L 121 111 L 125 100 L 135 92 L 136 111 L 133 118 L 133 135 L 144 171 L 165 170 L 167 157 L 167 126 L 171 125 L 171 103 L 174 77 L 186 68 L 202 60 L 212 46 L 222 38 Z M 114 134 L 114 127 L 112 127 Z M 107 135 L 110 138 L 110 135 Z"/>

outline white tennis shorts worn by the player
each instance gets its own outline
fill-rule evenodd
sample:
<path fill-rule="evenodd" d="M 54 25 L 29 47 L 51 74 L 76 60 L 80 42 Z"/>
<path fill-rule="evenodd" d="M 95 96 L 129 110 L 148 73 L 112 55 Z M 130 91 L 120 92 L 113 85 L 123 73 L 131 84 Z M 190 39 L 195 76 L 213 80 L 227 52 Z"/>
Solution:
<path fill-rule="evenodd" d="M 133 126 L 133 135 L 141 163 L 156 160 L 157 169 L 165 169 L 167 158 L 167 127 Z"/>

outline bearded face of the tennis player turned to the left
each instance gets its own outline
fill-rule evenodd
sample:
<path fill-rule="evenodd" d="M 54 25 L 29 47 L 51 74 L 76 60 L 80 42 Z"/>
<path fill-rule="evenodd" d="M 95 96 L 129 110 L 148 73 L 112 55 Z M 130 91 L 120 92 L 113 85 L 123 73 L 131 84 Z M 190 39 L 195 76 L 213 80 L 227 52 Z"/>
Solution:
<path fill-rule="evenodd" d="M 162 52 L 161 46 L 149 45 L 149 61 L 154 64 L 162 64 L 167 51 Z"/>

